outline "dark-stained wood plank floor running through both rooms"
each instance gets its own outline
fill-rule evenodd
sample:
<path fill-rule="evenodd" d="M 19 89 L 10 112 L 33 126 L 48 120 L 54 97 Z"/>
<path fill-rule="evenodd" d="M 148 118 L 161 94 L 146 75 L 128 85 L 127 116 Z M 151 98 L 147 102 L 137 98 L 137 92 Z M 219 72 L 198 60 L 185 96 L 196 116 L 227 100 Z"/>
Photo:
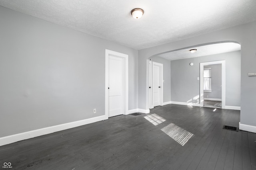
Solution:
<path fill-rule="evenodd" d="M 240 111 L 170 104 L 152 114 L 165 121 L 153 125 L 146 114 L 120 115 L 5 145 L 0 164 L 18 170 L 256 169 L 256 134 L 222 129 L 238 127 Z M 170 123 L 194 134 L 184 146 L 161 130 Z"/>

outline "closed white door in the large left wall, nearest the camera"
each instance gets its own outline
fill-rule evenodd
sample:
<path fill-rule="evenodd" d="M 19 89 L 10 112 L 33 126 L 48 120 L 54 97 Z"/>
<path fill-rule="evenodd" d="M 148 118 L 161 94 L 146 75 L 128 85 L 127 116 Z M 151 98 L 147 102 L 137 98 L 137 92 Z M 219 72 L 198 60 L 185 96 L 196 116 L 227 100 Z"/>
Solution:
<path fill-rule="evenodd" d="M 124 59 L 108 57 L 108 117 L 124 114 Z"/>

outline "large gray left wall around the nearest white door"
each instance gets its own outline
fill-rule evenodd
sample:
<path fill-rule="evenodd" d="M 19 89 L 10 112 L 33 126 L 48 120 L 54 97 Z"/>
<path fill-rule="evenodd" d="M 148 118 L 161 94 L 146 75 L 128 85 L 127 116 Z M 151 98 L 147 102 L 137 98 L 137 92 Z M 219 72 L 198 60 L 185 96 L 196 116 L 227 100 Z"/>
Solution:
<path fill-rule="evenodd" d="M 0 6 L 0 137 L 104 115 L 105 49 L 129 55 L 138 108 L 137 50 Z"/>

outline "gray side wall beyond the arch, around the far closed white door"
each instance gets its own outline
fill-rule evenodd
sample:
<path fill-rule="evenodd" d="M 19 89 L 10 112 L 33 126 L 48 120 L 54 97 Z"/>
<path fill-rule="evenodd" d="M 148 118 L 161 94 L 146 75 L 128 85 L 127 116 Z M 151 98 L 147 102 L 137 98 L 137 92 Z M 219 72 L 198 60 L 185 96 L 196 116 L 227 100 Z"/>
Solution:
<path fill-rule="evenodd" d="M 164 95 L 163 102 L 171 101 L 171 61 L 161 57 L 153 57 L 151 61 L 163 64 L 163 78 L 164 78 Z"/>

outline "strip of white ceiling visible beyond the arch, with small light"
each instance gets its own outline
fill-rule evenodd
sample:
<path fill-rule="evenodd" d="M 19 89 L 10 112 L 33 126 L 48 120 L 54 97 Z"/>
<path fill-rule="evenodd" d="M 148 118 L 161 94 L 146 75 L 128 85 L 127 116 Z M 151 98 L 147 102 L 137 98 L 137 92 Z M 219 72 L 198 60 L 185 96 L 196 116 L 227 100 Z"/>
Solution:
<path fill-rule="evenodd" d="M 196 49 L 196 52 L 191 53 L 190 49 Z M 186 59 L 186 58 L 207 56 L 207 55 L 220 54 L 220 53 L 227 53 L 227 52 L 239 51 L 239 50 L 241 50 L 241 45 L 238 43 L 216 43 L 216 44 L 210 44 L 210 45 L 202 45 L 199 47 L 193 47 L 189 49 L 171 51 L 169 53 L 158 55 L 158 57 L 162 57 L 167 60 L 178 60 L 178 59 Z"/>

